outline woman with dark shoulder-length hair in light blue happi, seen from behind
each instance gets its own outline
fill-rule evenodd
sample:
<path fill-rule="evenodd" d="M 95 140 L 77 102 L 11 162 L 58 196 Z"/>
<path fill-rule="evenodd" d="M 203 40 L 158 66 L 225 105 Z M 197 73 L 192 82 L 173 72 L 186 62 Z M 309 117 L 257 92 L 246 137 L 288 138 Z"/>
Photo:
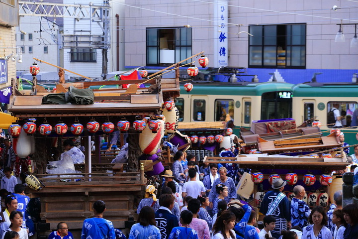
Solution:
<path fill-rule="evenodd" d="M 129 233 L 129 239 L 161 239 L 159 229 L 156 227 L 154 210 L 145 206 L 139 213 L 137 220 Z"/>

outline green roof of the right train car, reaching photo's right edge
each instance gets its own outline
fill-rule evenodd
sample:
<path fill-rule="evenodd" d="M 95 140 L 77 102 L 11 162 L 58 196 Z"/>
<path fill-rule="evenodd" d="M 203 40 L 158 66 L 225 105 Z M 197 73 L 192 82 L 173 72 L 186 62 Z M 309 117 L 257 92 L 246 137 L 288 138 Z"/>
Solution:
<path fill-rule="evenodd" d="M 292 87 L 293 97 L 357 97 L 358 84 L 303 83 Z"/>

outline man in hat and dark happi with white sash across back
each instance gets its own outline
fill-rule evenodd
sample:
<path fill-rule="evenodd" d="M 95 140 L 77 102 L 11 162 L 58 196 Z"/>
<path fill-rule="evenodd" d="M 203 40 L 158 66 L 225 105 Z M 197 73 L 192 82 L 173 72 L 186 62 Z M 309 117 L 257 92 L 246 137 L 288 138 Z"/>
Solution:
<path fill-rule="evenodd" d="M 282 193 L 286 184 L 282 178 L 273 179 L 273 190 L 265 194 L 260 207 L 260 213 L 272 215 L 276 219 L 275 228 L 271 232 L 274 238 L 279 238 L 282 230 L 291 229 L 290 204 L 286 195 Z"/>

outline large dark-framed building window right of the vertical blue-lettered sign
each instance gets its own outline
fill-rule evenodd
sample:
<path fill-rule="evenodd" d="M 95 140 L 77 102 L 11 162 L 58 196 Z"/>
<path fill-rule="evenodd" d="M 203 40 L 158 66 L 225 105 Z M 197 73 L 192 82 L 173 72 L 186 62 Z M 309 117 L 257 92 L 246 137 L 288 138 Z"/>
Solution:
<path fill-rule="evenodd" d="M 249 32 L 249 67 L 306 67 L 306 24 L 253 25 Z"/>

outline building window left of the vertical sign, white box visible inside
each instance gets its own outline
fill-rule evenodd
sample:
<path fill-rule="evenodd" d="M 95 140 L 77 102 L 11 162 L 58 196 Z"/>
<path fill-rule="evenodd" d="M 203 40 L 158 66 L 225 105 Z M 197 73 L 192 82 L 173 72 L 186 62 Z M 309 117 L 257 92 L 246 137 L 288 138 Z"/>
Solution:
<path fill-rule="evenodd" d="M 191 56 L 191 28 L 147 28 L 146 49 L 147 66 L 179 62 Z"/>

